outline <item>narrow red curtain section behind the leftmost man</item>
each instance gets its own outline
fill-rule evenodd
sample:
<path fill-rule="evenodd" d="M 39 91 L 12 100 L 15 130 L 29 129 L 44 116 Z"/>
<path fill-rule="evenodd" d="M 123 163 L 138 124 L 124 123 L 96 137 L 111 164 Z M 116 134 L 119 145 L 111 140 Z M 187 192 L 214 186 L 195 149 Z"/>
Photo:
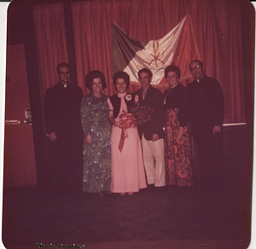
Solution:
<path fill-rule="evenodd" d="M 64 9 L 62 3 L 33 7 L 38 42 L 38 63 L 43 92 L 58 82 L 56 66 L 68 63 Z"/>

